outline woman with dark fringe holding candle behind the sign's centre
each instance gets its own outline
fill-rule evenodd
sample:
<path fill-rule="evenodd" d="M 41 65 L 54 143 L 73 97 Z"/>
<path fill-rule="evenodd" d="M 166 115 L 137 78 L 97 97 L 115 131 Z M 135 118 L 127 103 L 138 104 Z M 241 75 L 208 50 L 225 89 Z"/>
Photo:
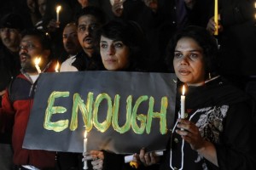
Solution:
<path fill-rule="evenodd" d="M 102 63 L 107 71 L 141 71 L 144 35 L 136 22 L 112 20 L 102 27 L 100 35 Z M 125 163 L 124 155 L 105 150 L 91 150 L 84 155 L 84 160 L 95 159 L 91 162 L 93 169 L 133 169 Z"/>

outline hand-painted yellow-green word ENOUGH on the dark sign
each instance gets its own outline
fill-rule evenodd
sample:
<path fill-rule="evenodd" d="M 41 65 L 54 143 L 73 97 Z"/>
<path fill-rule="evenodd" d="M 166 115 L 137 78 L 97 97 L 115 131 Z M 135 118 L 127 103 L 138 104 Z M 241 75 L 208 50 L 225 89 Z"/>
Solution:
<path fill-rule="evenodd" d="M 65 107 L 55 106 L 55 99 L 66 97 L 69 97 L 69 92 L 54 91 L 49 95 L 48 105 L 44 116 L 45 129 L 61 132 L 68 127 L 69 120 L 51 122 L 52 116 L 55 114 L 65 113 L 67 111 Z M 103 100 L 107 100 L 108 103 L 107 117 L 105 121 L 98 122 L 99 107 Z M 139 106 L 146 101 L 148 101 L 148 114 L 137 114 Z M 78 113 L 80 111 L 83 116 L 85 130 L 88 132 L 90 132 L 91 128 L 94 126 L 98 131 L 104 133 L 112 124 L 113 129 L 118 133 L 125 133 L 131 128 L 134 133 L 137 134 L 143 134 L 145 129 L 146 133 L 150 133 L 153 118 L 158 118 L 160 119 L 160 133 L 167 133 L 166 109 L 168 106 L 168 99 L 166 96 L 161 98 L 160 112 L 155 112 L 154 98 L 152 96 L 149 98 L 147 95 L 138 97 L 134 106 L 132 107 L 132 96 L 129 95 L 126 99 L 126 122 L 121 127 L 119 126 L 119 103 L 119 94 L 115 95 L 114 100 L 112 100 L 108 94 L 98 94 L 94 101 L 94 94 L 89 92 L 87 95 L 86 104 L 84 103 L 84 100 L 81 99 L 79 94 L 73 94 L 72 118 L 69 127 L 70 130 L 74 131 L 78 128 Z"/>

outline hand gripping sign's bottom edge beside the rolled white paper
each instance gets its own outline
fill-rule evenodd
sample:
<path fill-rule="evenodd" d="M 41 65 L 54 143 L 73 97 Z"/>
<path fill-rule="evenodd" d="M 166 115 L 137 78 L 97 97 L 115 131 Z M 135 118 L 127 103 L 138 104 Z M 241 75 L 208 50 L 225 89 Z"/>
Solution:
<path fill-rule="evenodd" d="M 134 154 L 133 161 L 142 162 L 145 167 L 154 165 L 160 161 L 160 157 L 155 152 L 146 152 L 145 149 L 140 150 L 140 154 Z"/>

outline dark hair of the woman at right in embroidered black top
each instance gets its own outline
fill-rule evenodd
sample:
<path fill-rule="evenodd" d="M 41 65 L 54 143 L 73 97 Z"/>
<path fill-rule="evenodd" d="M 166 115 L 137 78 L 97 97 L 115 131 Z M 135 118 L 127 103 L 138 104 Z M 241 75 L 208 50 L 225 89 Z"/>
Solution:
<path fill-rule="evenodd" d="M 206 65 L 206 76 L 208 73 L 212 75 L 217 74 L 217 55 L 218 55 L 218 43 L 216 39 L 207 31 L 207 29 L 200 26 L 188 26 L 182 31 L 178 31 L 174 37 L 172 37 L 166 50 L 166 63 L 171 71 L 173 71 L 173 59 L 174 51 L 177 46 L 177 42 L 183 38 L 189 37 L 195 40 L 198 45 L 203 49 L 204 61 Z"/>

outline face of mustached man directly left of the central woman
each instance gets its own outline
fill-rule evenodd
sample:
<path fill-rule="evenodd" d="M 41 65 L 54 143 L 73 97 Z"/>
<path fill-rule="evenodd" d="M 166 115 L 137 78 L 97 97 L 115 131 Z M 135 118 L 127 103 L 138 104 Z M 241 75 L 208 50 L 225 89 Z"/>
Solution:
<path fill-rule="evenodd" d="M 99 28 L 100 24 L 96 17 L 88 14 L 79 17 L 78 35 L 79 42 L 84 51 L 91 50 L 96 46 L 93 32 Z"/>

